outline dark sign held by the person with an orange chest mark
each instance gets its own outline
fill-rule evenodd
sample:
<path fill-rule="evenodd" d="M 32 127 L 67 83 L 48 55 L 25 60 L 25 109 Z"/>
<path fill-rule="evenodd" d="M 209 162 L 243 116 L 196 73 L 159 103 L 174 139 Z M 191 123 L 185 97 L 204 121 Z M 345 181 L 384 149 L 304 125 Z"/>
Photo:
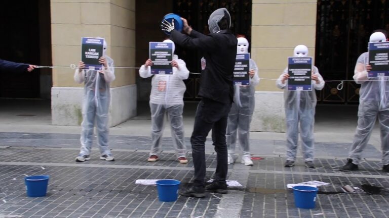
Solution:
<path fill-rule="evenodd" d="M 173 74 L 173 43 L 149 42 L 149 57 L 152 61 L 151 74 Z"/>

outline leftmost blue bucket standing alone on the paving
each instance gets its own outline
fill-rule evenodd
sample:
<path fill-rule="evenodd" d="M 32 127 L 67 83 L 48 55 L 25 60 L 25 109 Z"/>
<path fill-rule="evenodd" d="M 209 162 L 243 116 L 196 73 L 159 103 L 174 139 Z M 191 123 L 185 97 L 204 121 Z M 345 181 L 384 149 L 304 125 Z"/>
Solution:
<path fill-rule="evenodd" d="M 28 197 L 43 197 L 47 192 L 49 176 L 28 176 L 24 178 Z"/>

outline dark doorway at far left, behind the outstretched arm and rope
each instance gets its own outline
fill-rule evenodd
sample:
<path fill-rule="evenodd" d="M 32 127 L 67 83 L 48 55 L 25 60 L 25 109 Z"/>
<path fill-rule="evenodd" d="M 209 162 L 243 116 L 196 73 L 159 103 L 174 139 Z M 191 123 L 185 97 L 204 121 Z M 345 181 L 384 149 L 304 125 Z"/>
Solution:
<path fill-rule="evenodd" d="M 0 58 L 51 66 L 50 0 L 0 1 Z M 51 70 L 0 72 L 0 97 L 48 98 Z"/>

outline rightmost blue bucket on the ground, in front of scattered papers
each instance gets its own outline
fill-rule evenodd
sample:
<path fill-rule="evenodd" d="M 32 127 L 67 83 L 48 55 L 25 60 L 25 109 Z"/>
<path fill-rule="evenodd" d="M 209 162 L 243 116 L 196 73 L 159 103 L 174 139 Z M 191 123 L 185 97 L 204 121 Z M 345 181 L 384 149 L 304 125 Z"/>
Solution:
<path fill-rule="evenodd" d="M 316 194 L 318 188 L 312 186 L 293 187 L 294 202 L 296 207 L 310 209 L 315 208 Z"/>

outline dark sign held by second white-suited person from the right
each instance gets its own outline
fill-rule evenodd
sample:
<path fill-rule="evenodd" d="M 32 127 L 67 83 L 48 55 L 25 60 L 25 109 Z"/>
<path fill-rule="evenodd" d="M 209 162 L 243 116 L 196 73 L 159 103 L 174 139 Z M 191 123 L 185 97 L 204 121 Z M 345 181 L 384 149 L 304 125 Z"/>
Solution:
<path fill-rule="evenodd" d="M 288 74 L 288 90 L 311 91 L 312 57 L 289 57 Z"/>

